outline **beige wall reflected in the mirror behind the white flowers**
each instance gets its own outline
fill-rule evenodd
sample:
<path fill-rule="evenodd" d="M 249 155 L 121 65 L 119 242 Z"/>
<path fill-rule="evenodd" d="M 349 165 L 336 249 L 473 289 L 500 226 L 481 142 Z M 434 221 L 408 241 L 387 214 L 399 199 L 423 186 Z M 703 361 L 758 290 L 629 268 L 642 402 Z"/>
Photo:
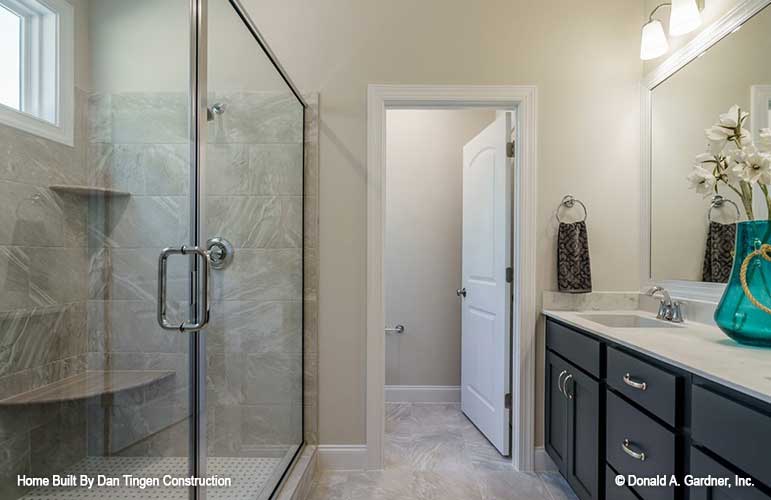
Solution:
<path fill-rule="evenodd" d="M 758 64 L 771 52 L 769 28 L 766 8 L 653 92 L 651 267 L 657 279 L 701 281 L 709 197 L 689 189 L 686 176 L 705 150 L 704 129 L 734 104 L 750 111 L 750 87 L 771 84 L 771 69 Z M 739 197 L 725 185 L 720 194 L 733 199 L 744 218 Z M 736 220 L 730 206 L 714 216 Z"/>

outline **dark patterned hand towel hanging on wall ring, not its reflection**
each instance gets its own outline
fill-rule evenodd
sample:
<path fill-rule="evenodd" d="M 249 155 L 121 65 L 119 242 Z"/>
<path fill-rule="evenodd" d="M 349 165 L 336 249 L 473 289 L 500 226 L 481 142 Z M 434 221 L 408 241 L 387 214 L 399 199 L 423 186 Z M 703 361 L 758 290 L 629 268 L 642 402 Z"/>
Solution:
<path fill-rule="evenodd" d="M 557 235 L 557 285 L 560 292 L 592 291 L 592 266 L 586 223 L 560 223 Z"/>

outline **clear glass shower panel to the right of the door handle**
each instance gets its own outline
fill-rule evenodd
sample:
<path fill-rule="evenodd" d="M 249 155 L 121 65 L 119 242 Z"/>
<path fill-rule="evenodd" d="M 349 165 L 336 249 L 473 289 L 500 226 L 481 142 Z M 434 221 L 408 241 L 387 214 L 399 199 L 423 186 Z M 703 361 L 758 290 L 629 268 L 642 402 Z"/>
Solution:
<path fill-rule="evenodd" d="M 233 248 L 205 333 L 209 472 L 267 498 L 303 440 L 303 106 L 231 3 L 208 9 L 204 235 Z"/>

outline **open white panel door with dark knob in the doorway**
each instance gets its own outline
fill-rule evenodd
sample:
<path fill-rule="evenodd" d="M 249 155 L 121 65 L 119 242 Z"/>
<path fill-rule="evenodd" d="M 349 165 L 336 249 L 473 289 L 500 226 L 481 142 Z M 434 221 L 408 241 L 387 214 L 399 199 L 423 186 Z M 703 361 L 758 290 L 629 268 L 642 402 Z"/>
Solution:
<path fill-rule="evenodd" d="M 511 284 L 511 117 L 463 147 L 461 406 L 503 455 L 509 455 Z"/>

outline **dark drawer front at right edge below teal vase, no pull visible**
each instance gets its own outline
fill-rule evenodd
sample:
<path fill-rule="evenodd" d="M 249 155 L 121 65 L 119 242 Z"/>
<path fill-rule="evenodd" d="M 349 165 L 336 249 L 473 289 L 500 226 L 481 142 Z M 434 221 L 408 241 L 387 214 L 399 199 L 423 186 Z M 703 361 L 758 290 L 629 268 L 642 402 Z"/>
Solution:
<path fill-rule="evenodd" d="M 771 486 L 771 415 L 698 385 L 693 386 L 691 407 L 694 442 Z"/>

